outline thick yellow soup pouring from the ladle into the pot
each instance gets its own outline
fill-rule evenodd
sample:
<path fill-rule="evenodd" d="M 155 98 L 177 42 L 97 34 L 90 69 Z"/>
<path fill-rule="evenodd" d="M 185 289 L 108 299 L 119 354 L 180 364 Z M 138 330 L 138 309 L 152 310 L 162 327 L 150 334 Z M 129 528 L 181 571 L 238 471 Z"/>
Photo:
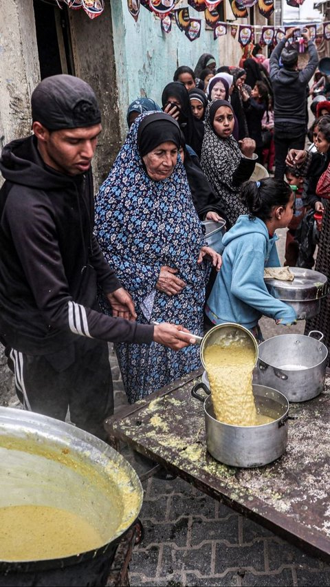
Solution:
<path fill-rule="evenodd" d="M 259 426 L 273 418 L 258 414 L 252 391 L 255 353 L 242 345 L 210 345 L 204 351 L 214 415 L 234 426 Z"/>

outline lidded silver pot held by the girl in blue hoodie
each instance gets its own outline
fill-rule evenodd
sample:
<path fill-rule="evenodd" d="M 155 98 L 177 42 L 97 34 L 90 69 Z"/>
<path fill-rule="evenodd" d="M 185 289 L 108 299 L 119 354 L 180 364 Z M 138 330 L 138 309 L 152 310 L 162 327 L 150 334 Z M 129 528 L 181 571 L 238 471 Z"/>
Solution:
<path fill-rule="evenodd" d="M 325 275 L 312 269 L 290 267 L 294 273 L 293 281 L 265 279 L 270 294 L 294 308 L 298 320 L 317 316 L 322 297 L 328 293 L 328 280 Z"/>

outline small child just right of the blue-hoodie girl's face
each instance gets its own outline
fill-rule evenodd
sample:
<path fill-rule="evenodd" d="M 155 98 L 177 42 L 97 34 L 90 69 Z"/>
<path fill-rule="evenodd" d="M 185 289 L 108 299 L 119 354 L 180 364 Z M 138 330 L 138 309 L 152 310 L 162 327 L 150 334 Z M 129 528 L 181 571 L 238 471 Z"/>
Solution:
<path fill-rule="evenodd" d="M 296 238 L 297 228 L 306 213 L 306 207 L 304 206 L 302 198 L 304 176 L 301 175 L 300 169 L 296 167 L 287 167 L 285 169 L 285 177 L 287 178 L 288 184 L 294 188 L 294 215 L 292 221 L 287 225 L 284 265 L 295 267 L 299 254 L 299 242 Z"/>

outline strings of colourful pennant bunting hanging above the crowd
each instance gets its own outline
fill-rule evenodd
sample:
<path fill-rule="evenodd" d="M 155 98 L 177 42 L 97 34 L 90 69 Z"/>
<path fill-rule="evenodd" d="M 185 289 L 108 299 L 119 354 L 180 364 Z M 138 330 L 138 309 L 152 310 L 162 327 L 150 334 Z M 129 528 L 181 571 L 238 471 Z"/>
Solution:
<path fill-rule="evenodd" d="M 201 19 L 190 16 L 189 7 L 175 8 L 179 0 L 127 0 L 129 13 L 135 22 L 140 14 L 140 6 L 143 6 L 149 12 L 153 12 L 160 18 L 162 32 L 169 33 L 172 25 L 175 24 L 184 32 L 189 41 L 195 41 L 201 34 Z M 276 45 L 283 39 L 285 32 L 290 27 L 274 27 L 263 25 L 239 25 L 229 24 L 221 21 L 221 2 L 223 0 L 187 0 L 188 5 L 197 12 L 204 12 L 206 25 L 213 30 L 214 39 L 219 36 L 230 34 L 235 38 L 242 47 L 256 41 L 256 34 L 260 34 L 258 42 L 260 45 Z M 304 0 L 287 0 L 290 6 L 300 6 Z M 274 0 L 232 0 L 232 12 L 236 18 L 245 18 L 248 16 L 248 8 L 258 4 L 259 12 L 269 19 L 274 12 Z M 325 23 L 309 23 L 304 25 L 309 29 L 311 40 L 314 41 L 316 36 L 323 36 L 327 41 L 330 40 L 330 21 Z"/>

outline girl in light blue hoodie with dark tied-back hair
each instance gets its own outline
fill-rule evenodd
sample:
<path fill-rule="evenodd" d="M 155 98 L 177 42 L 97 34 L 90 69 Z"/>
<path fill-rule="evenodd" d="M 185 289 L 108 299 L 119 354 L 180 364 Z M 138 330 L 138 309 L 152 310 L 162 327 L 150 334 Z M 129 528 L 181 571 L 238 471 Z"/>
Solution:
<path fill-rule="evenodd" d="M 264 314 L 276 323 L 296 323 L 291 306 L 275 299 L 263 279 L 265 267 L 279 267 L 276 228 L 292 220 L 294 194 L 283 180 L 246 182 L 241 192 L 249 214 L 239 216 L 223 237 L 222 267 L 206 303 L 212 324 L 235 322 L 259 338 L 258 321 Z"/>

